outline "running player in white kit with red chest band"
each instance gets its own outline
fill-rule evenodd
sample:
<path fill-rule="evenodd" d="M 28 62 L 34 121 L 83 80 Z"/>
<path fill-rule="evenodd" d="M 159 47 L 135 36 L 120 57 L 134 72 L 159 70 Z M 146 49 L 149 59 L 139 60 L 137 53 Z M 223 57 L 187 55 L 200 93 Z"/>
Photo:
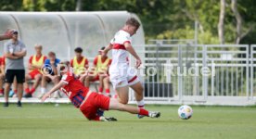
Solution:
<path fill-rule="evenodd" d="M 112 49 L 112 62 L 109 67 L 110 82 L 118 95 L 119 102 L 127 104 L 129 99 L 129 87 L 135 94 L 138 107 L 144 107 L 143 86 L 138 77 L 133 74 L 128 64 L 128 52 L 136 59 L 135 68 L 141 65 L 141 59 L 134 51 L 132 44 L 132 36 L 137 32 L 140 23 L 137 19 L 127 19 L 122 30 L 116 32 L 114 38 L 110 41 L 102 55 L 107 55 Z M 143 116 L 138 115 L 139 118 Z"/>

